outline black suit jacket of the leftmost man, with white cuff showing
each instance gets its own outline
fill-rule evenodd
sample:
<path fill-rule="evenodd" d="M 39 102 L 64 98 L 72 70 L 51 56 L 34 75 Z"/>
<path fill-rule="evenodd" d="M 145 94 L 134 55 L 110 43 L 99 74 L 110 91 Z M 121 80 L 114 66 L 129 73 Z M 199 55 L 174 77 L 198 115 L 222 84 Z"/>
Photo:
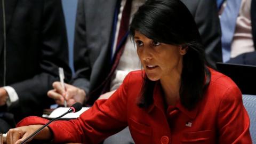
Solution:
<path fill-rule="evenodd" d="M 16 119 L 41 115 L 53 101 L 46 93 L 59 81 L 58 67 L 68 67 L 68 45 L 60 0 L 0 0 L 0 87 L 18 93 L 19 102 L 8 110 Z M 4 58 L 3 7 L 6 18 L 6 58 Z M 6 64 L 4 64 L 4 61 Z M 3 111 L 3 107 L 0 108 Z"/>

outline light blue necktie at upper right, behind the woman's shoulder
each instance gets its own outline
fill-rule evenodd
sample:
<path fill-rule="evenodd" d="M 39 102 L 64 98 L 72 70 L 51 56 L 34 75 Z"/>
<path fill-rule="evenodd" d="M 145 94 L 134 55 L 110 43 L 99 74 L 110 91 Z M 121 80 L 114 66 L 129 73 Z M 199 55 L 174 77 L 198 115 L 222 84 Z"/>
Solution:
<path fill-rule="evenodd" d="M 227 0 L 227 6 L 220 17 L 223 62 L 227 62 L 230 59 L 230 46 L 240 5 L 241 0 Z"/>

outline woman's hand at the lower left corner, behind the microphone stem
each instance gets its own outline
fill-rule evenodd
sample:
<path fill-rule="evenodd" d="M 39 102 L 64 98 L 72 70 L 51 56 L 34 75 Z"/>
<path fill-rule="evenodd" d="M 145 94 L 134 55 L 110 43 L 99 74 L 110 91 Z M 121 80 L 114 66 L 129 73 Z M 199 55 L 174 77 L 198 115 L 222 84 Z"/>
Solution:
<path fill-rule="evenodd" d="M 23 140 L 25 140 L 27 137 L 29 137 L 30 134 L 34 133 L 36 130 L 38 130 L 43 125 L 29 125 L 29 126 L 22 126 L 17 127 L 15 129 L 10 129 L 7 133 L 6 141 L 7 144 L 19 144 Z M 50 140 L 51 139 L 51 132 L 48 127 L 44 127 L 44 129 L 39 132 L 34 138 L 35 139 L 42 139 L 42 140 Z M 31 141 L 33 138 L 29 139 L 28 141 Z"/>

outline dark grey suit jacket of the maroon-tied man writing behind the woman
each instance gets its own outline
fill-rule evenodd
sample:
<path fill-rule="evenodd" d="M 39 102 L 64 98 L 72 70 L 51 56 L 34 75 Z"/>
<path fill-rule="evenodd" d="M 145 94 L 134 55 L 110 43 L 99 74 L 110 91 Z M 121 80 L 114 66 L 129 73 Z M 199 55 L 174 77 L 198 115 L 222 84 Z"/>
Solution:
<path fill-rule="evenodd" d="M 73 85 L 81 87 L 89 95 L 87 103 L 99 97 L 102 82 L 110 70 L 110 46 L 113 31 L 114 10 L 117 0 L 79 0 L 74 42 Z M 216 3 L 212 0 L 183 0 L 193 14 L 207 59 L 211 63 L 222 61 L 220 24 Z M 207 8 L 206 8 L 207 7 Z"/>

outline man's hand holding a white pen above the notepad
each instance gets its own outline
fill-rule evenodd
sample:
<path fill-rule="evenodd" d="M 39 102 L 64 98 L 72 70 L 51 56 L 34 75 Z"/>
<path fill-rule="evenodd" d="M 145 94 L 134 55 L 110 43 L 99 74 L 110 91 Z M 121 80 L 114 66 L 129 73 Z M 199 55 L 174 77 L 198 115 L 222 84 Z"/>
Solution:
<path fill-rule="evenodd" d="M 67 100 L 68 107 L 72 106 L 75 102 L 84 103 L 85 91 L 70 84 L 65 83 L 65 90 L 62 89 L 60 82 L 52 84 L 53 90 L 47 92 L 48 97 L 55 100 L 58 105 L 63 105 L 64 100 Z"/>

